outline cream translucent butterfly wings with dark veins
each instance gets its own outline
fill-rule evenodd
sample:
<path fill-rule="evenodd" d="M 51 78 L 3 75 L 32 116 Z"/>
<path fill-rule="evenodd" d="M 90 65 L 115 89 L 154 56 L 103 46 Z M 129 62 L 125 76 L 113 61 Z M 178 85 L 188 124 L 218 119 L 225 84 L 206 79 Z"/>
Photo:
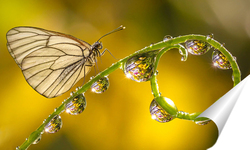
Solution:
<path fill-rule="evenodd" d="M 7 33 L 7 47 L 26 81 L 41 95 L 52 98 L 67 92 L 94 65 L 84 57 L 90 45 L 73 36 L 34 27 Z"/>

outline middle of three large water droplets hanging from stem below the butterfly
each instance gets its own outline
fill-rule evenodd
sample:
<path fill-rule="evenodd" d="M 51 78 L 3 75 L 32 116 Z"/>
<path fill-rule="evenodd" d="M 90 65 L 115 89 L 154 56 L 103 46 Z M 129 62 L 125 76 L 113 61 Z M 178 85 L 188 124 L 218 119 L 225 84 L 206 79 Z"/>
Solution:
<path fill-rule="evenodd" d="M 66 112 L 71 115 L 78 115 L 86 108 L 87 102 L 83 94 L 74 97 L 67 105 Z"/>

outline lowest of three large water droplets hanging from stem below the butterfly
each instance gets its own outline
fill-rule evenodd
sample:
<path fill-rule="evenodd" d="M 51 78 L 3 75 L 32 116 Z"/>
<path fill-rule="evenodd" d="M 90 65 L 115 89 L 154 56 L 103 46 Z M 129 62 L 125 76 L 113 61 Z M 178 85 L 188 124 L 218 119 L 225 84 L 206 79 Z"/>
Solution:
<path fill-rule="evenodd" d="M 56 133 L 62 128 L 61 116 L 56 115 L 50 122 L 44 127 L 47 133 Z"/>

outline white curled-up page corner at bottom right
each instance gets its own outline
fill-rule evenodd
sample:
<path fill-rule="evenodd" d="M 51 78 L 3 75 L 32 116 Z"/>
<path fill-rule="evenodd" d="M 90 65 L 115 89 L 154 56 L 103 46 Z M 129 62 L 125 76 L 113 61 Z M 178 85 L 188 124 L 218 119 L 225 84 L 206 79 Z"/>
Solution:
<path fill-rule="evenodd" d="M 250 149 L 249 108 L 250 75 L 198 116 L 213 120 L 219 131 L 209 150 Z"/>

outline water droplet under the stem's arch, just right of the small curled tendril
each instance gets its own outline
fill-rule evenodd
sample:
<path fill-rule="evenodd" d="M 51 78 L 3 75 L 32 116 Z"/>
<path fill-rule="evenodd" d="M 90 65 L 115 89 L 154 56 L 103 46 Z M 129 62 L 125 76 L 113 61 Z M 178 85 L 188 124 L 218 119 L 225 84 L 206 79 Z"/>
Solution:
<path fill-rule="evenodd" d="M 185 42 L 185 46 L 192 55 L 202 55 L 211 49 L 211 45 L 200 40 L 188 40 Z"/>

